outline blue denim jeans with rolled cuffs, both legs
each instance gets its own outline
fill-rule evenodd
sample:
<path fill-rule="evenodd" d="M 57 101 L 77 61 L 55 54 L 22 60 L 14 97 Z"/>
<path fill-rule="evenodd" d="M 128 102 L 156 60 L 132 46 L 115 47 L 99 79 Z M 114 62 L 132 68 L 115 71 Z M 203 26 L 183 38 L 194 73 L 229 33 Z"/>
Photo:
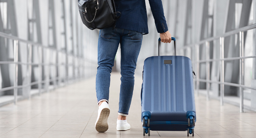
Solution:
<path fill-rule="evenodd" d="M 142 43 L 142 33 L 112 27 L 101 29 L 98 41 L 96 95 L 98 102 L 109 99 L 110 73 L 117 48 L 121 48 L 121 88 L 119 113 L 128 115 L 134 88 L 134 71 Z"/>

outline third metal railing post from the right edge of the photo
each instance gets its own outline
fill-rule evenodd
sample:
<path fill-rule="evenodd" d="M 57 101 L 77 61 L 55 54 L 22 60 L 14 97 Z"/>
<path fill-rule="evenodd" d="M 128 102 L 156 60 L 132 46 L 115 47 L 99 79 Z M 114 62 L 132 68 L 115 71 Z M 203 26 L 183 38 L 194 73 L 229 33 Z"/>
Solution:
<path fill-rule="evenodd" d="M 206 100 L 208 101 L 210 96 L 209 96 L 209 92 L 210 92 L 210 44 L 209 41 L 206 41 L 206 89 L 207 89 L 207 94 L 206 94 Z"/>

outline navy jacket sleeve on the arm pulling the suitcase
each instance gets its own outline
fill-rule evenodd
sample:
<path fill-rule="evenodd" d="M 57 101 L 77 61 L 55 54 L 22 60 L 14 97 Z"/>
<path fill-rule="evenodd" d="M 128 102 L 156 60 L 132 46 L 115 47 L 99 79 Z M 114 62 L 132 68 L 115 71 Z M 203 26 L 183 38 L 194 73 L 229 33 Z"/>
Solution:
<path fill-rule="evenodd" d="M 163 12 L 162 0 L 148 0 L 149 5 L 155 19 L 156 30 L 158 33 L 164 33 L 168 31 L 166 19 Z"/>

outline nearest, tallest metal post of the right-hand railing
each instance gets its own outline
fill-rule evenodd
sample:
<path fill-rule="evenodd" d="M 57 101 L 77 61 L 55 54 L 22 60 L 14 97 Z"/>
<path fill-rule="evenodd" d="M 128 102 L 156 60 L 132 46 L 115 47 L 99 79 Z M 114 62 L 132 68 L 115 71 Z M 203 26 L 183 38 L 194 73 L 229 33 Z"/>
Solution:
<path fill-rule="evenodd" d="M 240 40 L 240 57 L 244 56 L 244 32 L 239 32 L 239 40 Z M 240 59 L 240 70 L 239 70 L 240 78 L 239 83 L 240 85 L 244 84 L 244 59 Z M 240 112 L 244 112 L 244 95 L 243 95 L 243 88 L 240 87 Z"/>

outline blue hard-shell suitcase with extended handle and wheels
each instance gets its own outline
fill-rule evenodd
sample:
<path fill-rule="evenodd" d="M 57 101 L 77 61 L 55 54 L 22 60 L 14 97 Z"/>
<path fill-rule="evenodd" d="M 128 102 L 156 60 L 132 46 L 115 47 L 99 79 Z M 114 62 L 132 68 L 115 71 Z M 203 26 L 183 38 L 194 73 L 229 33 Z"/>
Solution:
<path fill-rule="evenodd" d="M 186 56 L 146 58 L 141 89 L 143 135 L 153 131 L 187 131 L 194 136 L 196 109 L 191 60 Z M 159 38 L 159 51 L 161 39 Z M 159 55 L 159 53 L 158 53 Z"/>

